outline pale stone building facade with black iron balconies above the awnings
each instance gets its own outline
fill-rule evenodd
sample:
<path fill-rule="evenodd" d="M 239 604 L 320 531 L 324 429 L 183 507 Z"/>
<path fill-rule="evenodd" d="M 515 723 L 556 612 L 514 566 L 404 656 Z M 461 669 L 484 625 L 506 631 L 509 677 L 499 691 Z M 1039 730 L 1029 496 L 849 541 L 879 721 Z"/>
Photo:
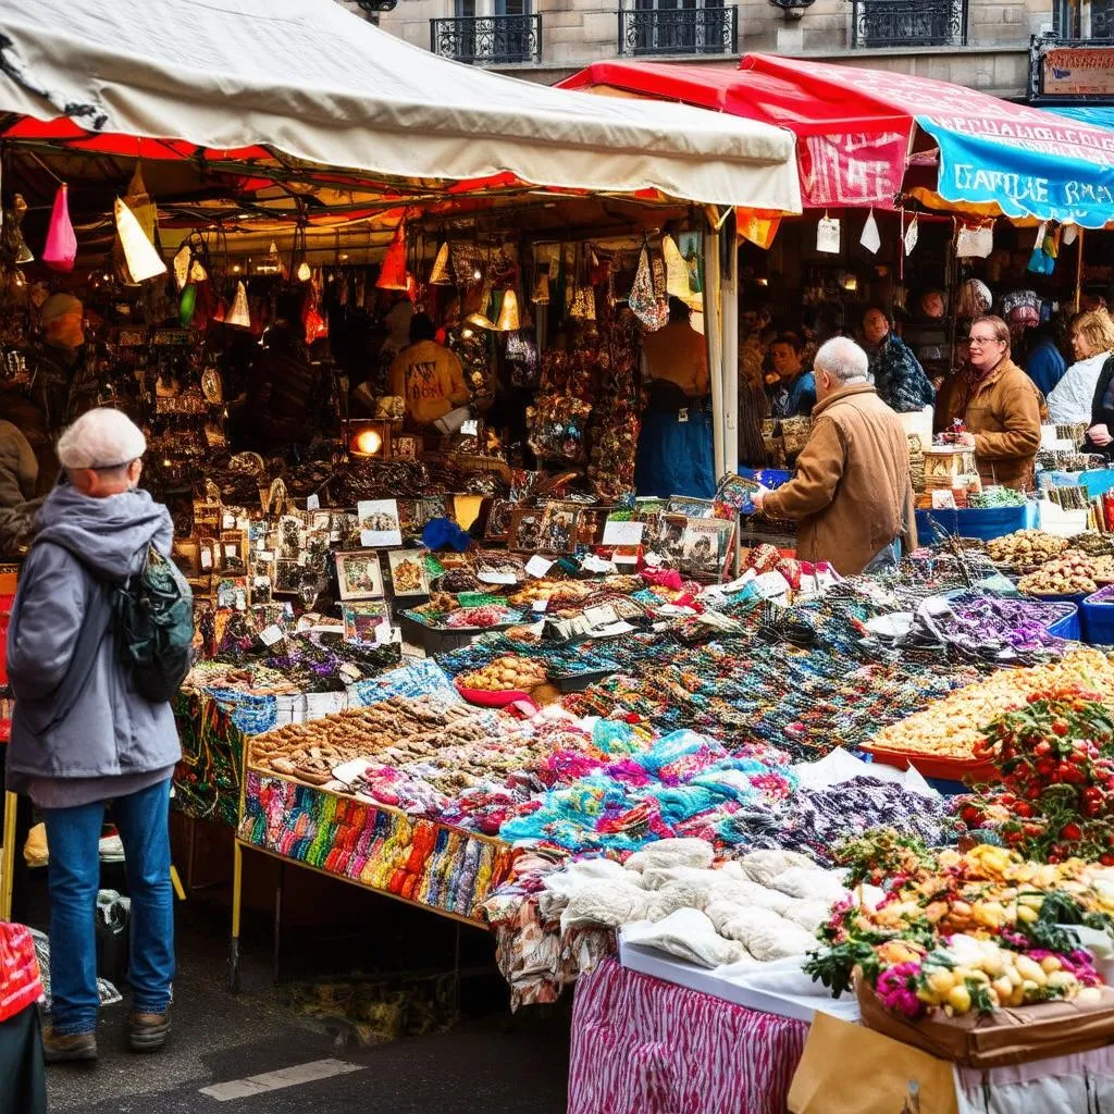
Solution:
<path fill-rule="evenodd" d="M 765 51 L 1015 100 L 1035 39 L 1114 41 L 1114 0 L 395 0 L 369 18 L 427 50 L 545 84 L 605 59 L 724 65 Z"/>

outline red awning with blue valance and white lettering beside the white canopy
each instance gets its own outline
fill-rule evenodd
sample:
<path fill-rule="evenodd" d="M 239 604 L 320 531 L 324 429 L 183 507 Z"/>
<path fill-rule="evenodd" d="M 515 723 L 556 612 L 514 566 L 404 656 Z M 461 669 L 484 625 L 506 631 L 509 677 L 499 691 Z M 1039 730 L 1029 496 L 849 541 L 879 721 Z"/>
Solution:
<path fill-rule="evenodd" d="M 813 207 L 892 207 L 916 184 L 913 152 L 938 149 L 934 186 L 949 204 L 1092 227 L 1114 212 L 1114 137 L 946 81 L 747 55 L 737 68 L 597 62 L 563 85 L 786 127 Z"/>

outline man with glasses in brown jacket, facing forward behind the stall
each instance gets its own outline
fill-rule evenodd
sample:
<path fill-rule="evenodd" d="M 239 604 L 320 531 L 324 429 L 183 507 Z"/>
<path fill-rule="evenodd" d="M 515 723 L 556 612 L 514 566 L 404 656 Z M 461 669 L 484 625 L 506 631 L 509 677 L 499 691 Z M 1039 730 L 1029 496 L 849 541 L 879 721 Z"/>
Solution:
<path fill-rule="evenodd" d="M 971 322 L 968 365 L 940 391 L 938 430 L 964 423 L 959 443 L 975 450 L 984 483 L 1032 490 L 1040 447 L 1043 399 L 1009 358 L 1009 326 L 1001 317 Z"/>

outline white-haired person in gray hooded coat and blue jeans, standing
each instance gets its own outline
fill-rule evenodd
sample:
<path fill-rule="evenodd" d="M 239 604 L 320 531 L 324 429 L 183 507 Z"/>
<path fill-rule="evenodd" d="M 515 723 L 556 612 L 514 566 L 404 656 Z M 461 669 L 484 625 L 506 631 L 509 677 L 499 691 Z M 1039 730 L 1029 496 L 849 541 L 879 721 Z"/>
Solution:
<path fill-rule="evenodd" d="M 162 1047 L 169 1029 L 168 808 L 180 747 L 170 705 L 131 684 L 109 600 L 150 547 L 170 553 L 170 516 L 139 490 L 146 448 L 118 410 L 90 410 L 62 433 L 63 477 L 39 511 L 8 633 L 16 694 L 8 788 L 39 808 L 50 847 L 48 1062 L 97 1055 L 94 916 L 109 801 L 131 895 L 133 1049 Z"/>

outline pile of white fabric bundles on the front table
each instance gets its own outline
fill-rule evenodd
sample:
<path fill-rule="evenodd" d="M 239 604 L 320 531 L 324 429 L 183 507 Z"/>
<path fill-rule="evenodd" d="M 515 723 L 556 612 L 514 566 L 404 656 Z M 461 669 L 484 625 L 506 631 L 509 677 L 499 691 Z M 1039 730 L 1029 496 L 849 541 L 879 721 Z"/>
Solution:
<path fill-rule="evenodd" d="M 626 940 L 704 967 L 803 956 L 833 902 L 848 896 L 841 872 L 794 851 L 753 851 L 713 867 L 711 844 L 666 839 L 625 864 L 586 859 L 548 876 L 544 918 L 561 930 L 627 926 Z"/>

